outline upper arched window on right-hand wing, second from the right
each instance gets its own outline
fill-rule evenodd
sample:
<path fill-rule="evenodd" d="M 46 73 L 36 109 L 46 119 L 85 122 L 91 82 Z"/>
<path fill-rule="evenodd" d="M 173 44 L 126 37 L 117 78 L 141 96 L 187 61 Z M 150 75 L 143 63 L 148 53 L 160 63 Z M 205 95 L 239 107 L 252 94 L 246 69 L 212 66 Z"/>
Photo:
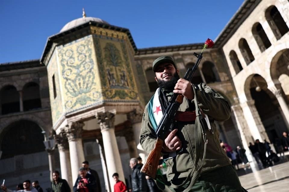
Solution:
<path fill-rule="evenodd" d="M 262 27 L 262 25 L 257 22 L 252 27 L 253 36 L 259 46 L 261 52 L 265 51 L 271 46 L 271 43 Z"/>

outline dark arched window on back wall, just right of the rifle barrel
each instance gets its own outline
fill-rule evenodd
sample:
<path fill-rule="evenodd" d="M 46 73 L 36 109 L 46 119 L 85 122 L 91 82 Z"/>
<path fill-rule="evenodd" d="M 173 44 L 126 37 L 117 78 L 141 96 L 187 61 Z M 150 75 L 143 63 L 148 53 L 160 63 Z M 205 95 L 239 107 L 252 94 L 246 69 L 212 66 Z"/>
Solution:
<path fill-rule="evenodd" d="M 210 61 L 204 62 L 203 67 L 202 67 L 202 72 L 204 74 L 206 83 L 220 81 L 216 66 L 212 62 Z"/>

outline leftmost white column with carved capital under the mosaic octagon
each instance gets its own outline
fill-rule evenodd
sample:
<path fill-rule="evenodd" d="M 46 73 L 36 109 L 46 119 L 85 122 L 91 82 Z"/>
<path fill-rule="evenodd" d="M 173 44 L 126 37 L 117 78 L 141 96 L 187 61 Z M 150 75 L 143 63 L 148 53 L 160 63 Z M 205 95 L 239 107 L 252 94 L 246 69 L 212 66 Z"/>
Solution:
<path fill-rule="evenodd" d="M 61 178 L 65 179 L 72 187 L 74 183 L 71 175 L 69 144 L 64 129 L 61 130 L 60 134 L 55 135 L 55 141 L 59 151 Z"/>

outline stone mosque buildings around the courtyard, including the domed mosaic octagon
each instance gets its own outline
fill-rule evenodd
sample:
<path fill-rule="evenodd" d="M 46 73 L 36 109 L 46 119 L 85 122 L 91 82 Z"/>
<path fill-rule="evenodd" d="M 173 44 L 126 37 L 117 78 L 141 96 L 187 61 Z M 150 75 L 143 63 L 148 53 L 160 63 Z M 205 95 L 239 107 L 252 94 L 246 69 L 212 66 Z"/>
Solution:
<path fill-rule="evenodd" d="M 205 50 L 192 81 L 229 101 L 231 118 L 216 122 L 220 139 L 243 146 L 249 159 L 249 142 L 274 143 L 289 130 L 288 8 L 286 0 L 244 1 Z M 1 64 L 0 177 L 11 188 L 25 179 L 48 188 L 48 170 L 59 169 L 72 186 L 88 160 L 103 191 L 111 191 L 112 174 L 124 181 L 129 159 L 147 155 L 138 135 L 157 88 L 152 62 L 170 55 L 183 76 L 202 46 L 137 49 L 129 29 L 83 13 L 48 37 L 40 60 Z M 48 158 L 45 137 L 56 143 L 46 147 Z"/>

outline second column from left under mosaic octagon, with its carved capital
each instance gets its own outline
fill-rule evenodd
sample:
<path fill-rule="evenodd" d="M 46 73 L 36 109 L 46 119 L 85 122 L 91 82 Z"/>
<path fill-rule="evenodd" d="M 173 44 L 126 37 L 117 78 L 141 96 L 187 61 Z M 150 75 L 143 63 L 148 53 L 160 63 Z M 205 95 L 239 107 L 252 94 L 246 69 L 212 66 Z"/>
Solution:
<path fill-rule="evenodd" d="M 64 128 L 69 144 L 71 175 L 73 182 L 76 181 L 78 170 L 84 161 L 84 152 L 81 139 L 83 126 L 83 122 L 73 122 Z"/>

